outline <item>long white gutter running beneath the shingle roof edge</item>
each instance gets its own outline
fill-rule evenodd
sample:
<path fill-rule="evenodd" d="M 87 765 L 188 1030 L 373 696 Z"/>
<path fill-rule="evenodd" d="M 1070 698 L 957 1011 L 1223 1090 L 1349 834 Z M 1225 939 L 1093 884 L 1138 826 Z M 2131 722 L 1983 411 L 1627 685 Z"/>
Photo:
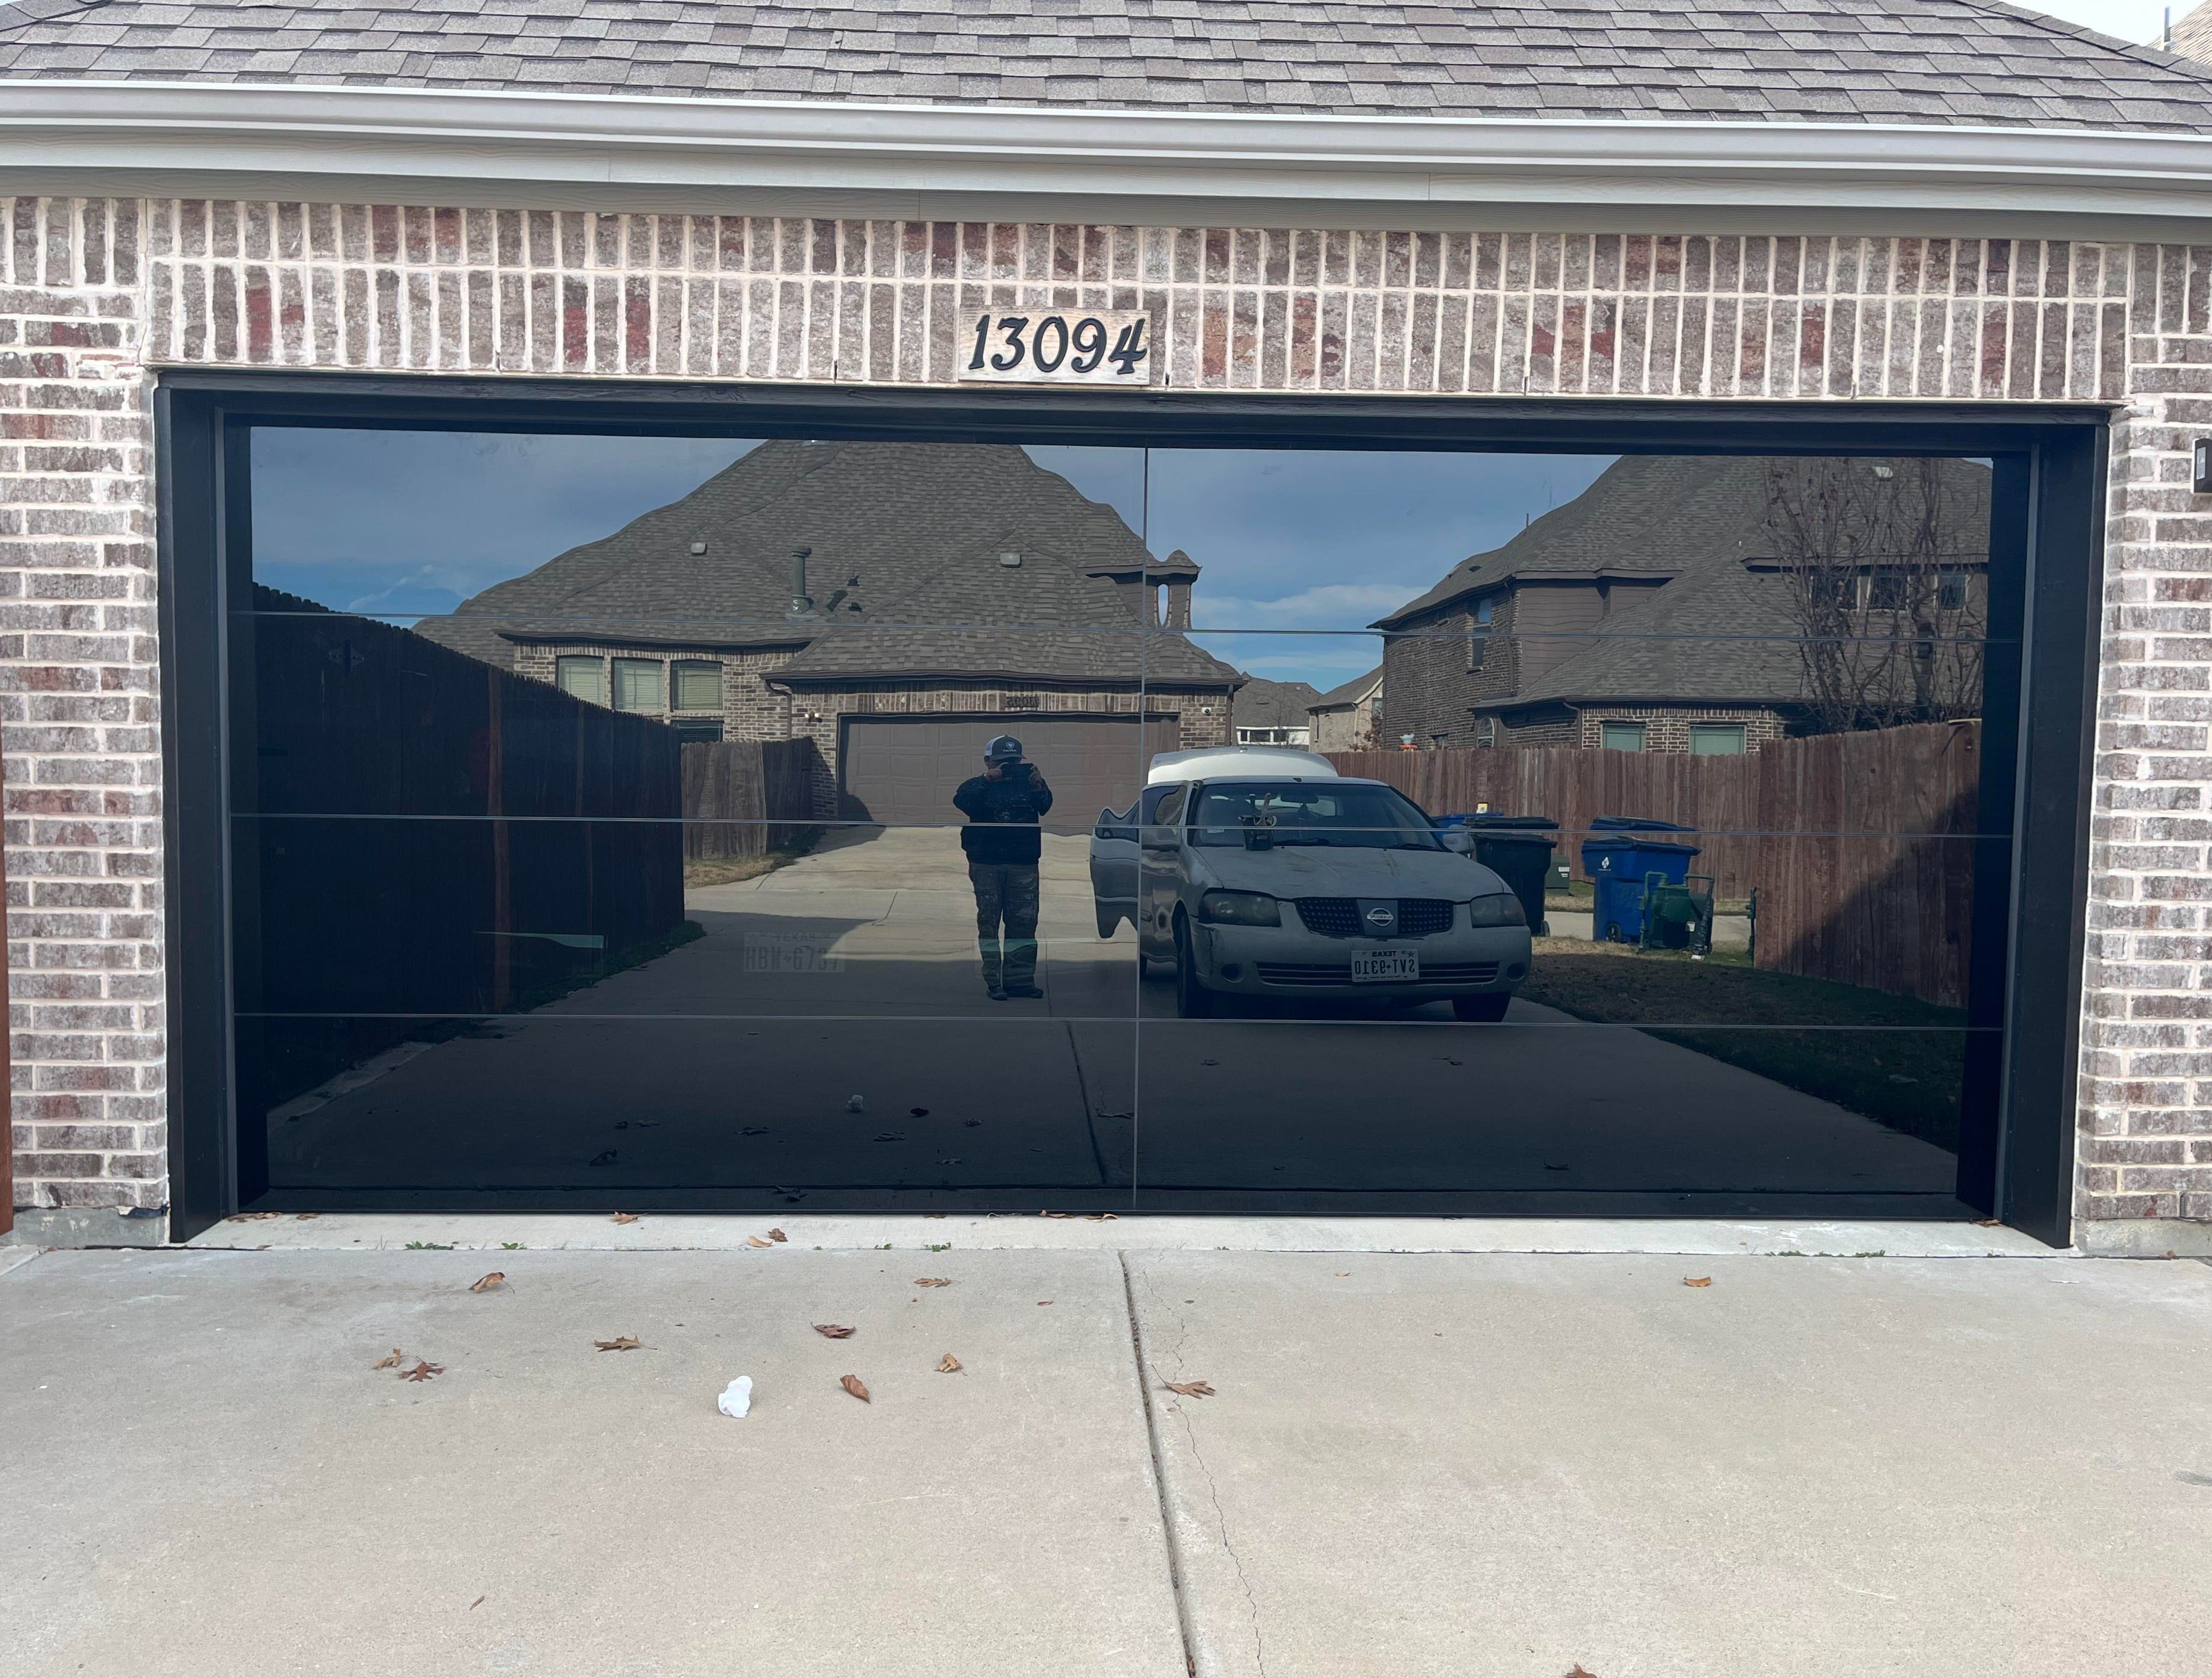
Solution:
<path fill-rule="evenodd" d="M 1469 226 L 1692 208 L 2203 239 L 2212 135 L 0 80 L 0 190 Z M 1641 214 L 1635 212 L 1655 212 Z M 1528 221 L 1528 214 L 1517 214 Z M 1672 217 L 1668 217 L 1672 219 Z M 2079 237 L 2079 230 L 2075 230 Z"/>

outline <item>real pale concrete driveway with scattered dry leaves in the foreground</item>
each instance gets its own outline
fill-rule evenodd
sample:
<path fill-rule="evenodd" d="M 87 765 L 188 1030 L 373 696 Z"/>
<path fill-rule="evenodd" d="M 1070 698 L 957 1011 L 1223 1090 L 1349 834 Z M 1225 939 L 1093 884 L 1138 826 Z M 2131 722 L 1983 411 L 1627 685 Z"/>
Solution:
<path fill-rule="evenodd" d="M 544 1223 L 0 1271 L 7 1669 L 2132 1678 L 2212 1647 L 2199 1262 L 1135 1220 L 502 1247 Z M 717 1415 L 741 1373 L 752 1415 Z"/>

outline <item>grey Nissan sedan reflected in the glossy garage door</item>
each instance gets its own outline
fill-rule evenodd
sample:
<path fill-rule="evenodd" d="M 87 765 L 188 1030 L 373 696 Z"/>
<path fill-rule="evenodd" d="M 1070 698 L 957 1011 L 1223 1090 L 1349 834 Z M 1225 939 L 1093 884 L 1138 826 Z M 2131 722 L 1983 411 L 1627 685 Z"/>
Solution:
<path fill-rule="evenodd" d="M 1212 778 L 1159 791 L 1137 822 L 1137 951 L 1139 966 L 1172 968 L 1183 1019 L 1210 1017 L 1221 993 L 1449 999 L 1458 1019 L 1504 1019 L 1528 977 L 1522 902 L 1396 787 Z"/>

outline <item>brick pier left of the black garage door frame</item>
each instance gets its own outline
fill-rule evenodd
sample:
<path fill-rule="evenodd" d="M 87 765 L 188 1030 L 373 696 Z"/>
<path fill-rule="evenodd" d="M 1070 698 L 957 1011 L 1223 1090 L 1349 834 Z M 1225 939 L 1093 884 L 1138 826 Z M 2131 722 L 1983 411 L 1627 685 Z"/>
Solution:
<path fill-rule="evenodd" d="M 139 234 L 18 199 L 0 250 L 15 1196 L 71 1209 L 168 1203 Z"/>

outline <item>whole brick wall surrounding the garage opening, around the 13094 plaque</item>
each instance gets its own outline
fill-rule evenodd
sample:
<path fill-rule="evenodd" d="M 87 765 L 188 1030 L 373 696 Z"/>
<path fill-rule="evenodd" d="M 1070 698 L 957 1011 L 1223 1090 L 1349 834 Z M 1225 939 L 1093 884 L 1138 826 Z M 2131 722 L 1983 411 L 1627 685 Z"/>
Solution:
<path fill-rule="evenodd" d="M 1150 307 L 1170 387 L 2124 407 L 2081 1212 L 2212 1218 L 2212 250 L 0 199 L 15 1147 L 161 1205 L 146 385 L 173 363 L 949 382 L 971 307 Z"/>

